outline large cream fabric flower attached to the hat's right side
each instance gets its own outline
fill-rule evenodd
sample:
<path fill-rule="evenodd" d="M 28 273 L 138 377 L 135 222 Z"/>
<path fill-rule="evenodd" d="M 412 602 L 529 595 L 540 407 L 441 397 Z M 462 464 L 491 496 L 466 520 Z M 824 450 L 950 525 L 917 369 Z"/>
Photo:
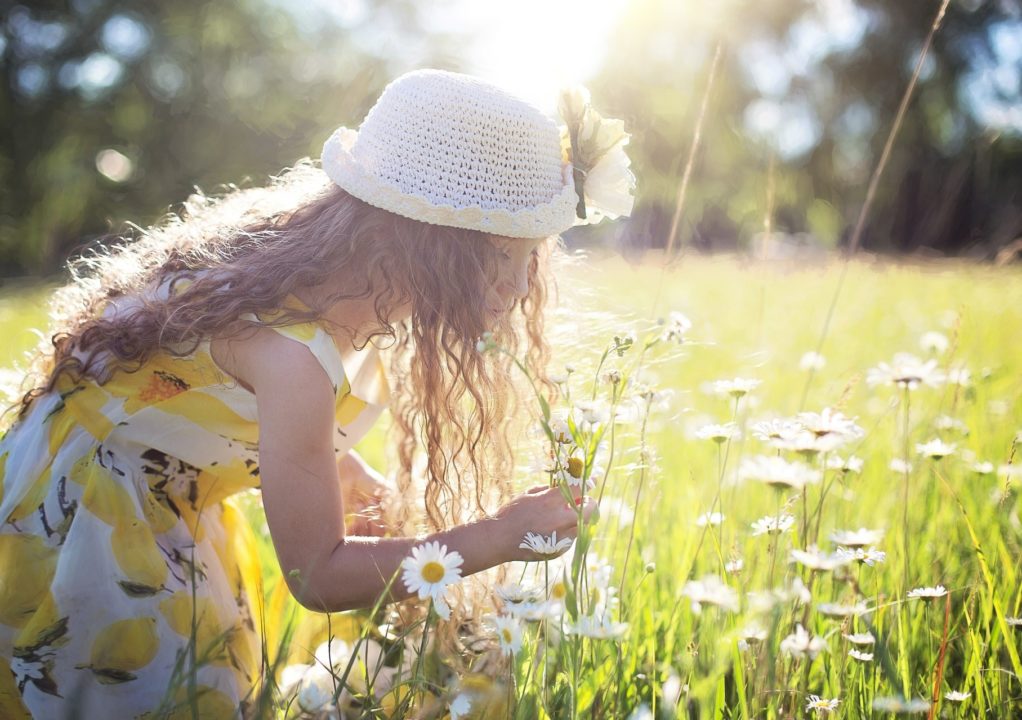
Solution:
<path fill-rule="evenodd" d="M 561 92 L 558 112 L 561 126 L 561 156 L 572 165 L 575 193 L 575 225 L 599 223 L 632 213 L 636 179 L 624 146 L 631 136 L 624 123 L 603 117 L 590 104 L 589 91 L 580 85 Z"/>

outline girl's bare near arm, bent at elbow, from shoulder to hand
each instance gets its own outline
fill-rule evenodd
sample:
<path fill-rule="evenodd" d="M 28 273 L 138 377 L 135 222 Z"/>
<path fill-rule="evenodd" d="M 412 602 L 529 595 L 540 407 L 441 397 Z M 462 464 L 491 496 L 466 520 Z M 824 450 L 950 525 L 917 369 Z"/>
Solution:
<path fill-rule="evenodd" d="M 533 488 L 498 513 L 425 537 L 354 537 L 344 533 L 344 508 L 332 433 L 334 395 L 309 349 L 261 330 L 231 343 L 239 379 L 256 391 L 260 474 L 267 524 L 288 586 L 318 611 L 371 607 L 412 547 L 437 540 L 464 558 L 470 575 L 511 560 L 529 560 L 518 543 L 528 531 L 573 536 L 574 508 L 559 489 Z M 595 503 L 588 501 L 585 513 Z M 390 599 L 409 596 L 399 578 Z"/>

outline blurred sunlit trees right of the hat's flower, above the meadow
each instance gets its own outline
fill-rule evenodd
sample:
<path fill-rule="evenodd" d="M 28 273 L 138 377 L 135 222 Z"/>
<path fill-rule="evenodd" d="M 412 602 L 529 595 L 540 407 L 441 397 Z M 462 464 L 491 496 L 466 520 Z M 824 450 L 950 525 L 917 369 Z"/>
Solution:
<path fill-rule="evenodd" d="M 633 3 L 592 83 L 635 129 L 640 197 L 622 241 L 666 242 L 716 43 L 723 60 L 678 240 L 748 244 L 769 214 L 775 231 L 845 241 L 938 6 Z M 1022 235 L 1020 66 L 1018 0 L 951 3 L 865 247 L 990 257 Z"/>

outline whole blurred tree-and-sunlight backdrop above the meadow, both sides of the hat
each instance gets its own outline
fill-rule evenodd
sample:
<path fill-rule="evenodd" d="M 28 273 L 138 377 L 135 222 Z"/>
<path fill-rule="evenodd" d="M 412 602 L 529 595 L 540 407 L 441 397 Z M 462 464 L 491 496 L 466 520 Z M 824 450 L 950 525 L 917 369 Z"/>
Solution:
<path fill-rule="evenodd" d="M 45 276 L 199 187 L 262 184 L 358 127 L 416 67 L 473 73 L 554 114 L 587 85 L 633 134 L 633 217 L 566 234 L 662 247 L 707 96 L 677 241 L 848 242 L 934 0 L 36 0 L 0 3 L 0 277 Z M 1022 3 L 953 0 L 861 246 L 1022 252 Z M 772 243 L 763 243 L 764 230 Z"/>

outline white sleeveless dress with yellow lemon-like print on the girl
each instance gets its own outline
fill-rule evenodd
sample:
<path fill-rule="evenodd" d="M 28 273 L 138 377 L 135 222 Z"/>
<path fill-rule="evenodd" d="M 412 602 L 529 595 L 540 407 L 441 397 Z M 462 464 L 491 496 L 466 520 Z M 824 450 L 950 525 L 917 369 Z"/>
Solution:
<path fill-rule="evenodd" d="M 275 330 L 329 376 L 346 453 L 388 399 L 377 350 L 345 373 L 319 324 Z M 244 715 L 266 667 L 263 589 L 231 495 L 259 487 L 258 442 L 256 397 L 208 341 L 103 385 L 64 377 L 14 423 L 0 439 L 0 717 L 191 718 L 196 698 L 200 717 Z"/>

